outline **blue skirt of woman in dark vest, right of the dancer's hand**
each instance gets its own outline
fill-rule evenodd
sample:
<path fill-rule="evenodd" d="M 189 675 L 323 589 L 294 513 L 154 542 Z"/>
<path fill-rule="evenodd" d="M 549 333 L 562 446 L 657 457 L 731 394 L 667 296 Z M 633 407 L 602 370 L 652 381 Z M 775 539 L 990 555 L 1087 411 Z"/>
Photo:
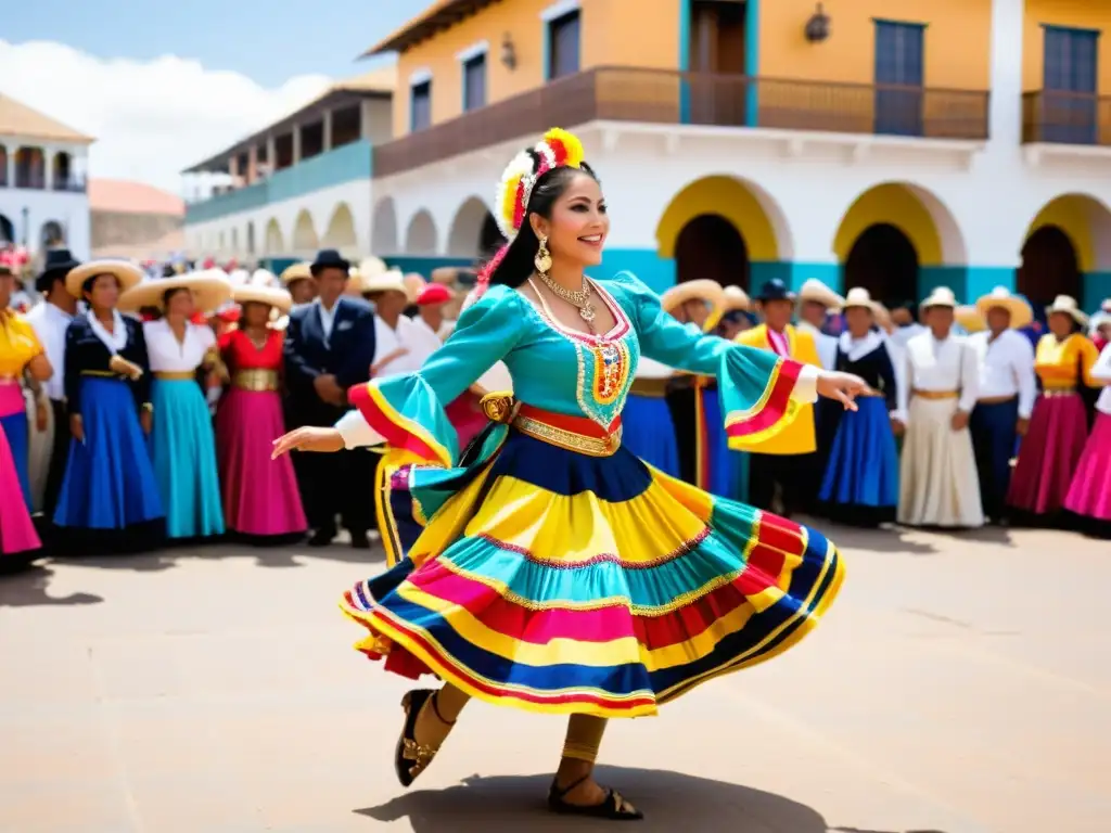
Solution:
<path fill-rule="evenodd" d="M 841 416 L 819 499 L 825 504 L 890 510 L 899 503 L 899 453 L 888 404 L 861 397 Z M 881 520 L 881 519 L 877 519 Z"/>

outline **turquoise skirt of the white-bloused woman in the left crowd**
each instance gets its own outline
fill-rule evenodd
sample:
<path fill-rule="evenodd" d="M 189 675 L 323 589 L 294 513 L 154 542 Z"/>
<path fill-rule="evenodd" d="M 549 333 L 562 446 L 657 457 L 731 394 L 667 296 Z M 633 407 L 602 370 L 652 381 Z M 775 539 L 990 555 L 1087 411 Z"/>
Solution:
<path fill-rule="evenodd" d="M 222 535 L 212 416 L 200 385 L 192 379 L 156 379 L 150 401 L 154 405 L 151 456 L 166 505 L 167 535 Z"/>

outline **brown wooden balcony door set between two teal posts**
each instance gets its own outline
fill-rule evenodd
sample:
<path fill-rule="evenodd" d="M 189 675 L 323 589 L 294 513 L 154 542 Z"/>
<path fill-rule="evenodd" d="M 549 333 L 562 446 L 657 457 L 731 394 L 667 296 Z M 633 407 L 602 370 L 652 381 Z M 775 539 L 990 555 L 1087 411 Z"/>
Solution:
<path fill-rule="evenodd" d="M 690 122 L 745 123 L 745 13 L 743 0 L 688 0 Z"/>

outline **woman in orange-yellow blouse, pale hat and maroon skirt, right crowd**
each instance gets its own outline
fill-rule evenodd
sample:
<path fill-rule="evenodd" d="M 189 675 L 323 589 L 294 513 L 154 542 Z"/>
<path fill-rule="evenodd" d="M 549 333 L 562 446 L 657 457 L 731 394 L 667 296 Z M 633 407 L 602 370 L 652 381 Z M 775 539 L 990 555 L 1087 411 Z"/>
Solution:
<path fill-rule="evenodd" d="M 1082 332 L 1088 317 L 1075 299 L 1058 295 L 1045 313 L 1050 331 L 1034 353 L 1042 392 L 1019 448 L 1007 503 L 1015 520 L 1053 523 L 1064 510 L 1088 438 L 1088 414 L 1078 388 L 1099 384 L 1091 377 L 1099 353 Z"/>

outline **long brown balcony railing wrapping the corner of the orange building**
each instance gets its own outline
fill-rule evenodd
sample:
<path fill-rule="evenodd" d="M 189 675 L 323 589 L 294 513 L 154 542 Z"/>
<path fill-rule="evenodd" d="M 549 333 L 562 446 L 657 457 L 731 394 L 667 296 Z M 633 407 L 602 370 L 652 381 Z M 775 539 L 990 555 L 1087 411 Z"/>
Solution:
<path fill-rule="evenodd" d="M 590 121 L 988 138 L 988 93 L 600 67 L 374 148 L 374 177 Z"/>

